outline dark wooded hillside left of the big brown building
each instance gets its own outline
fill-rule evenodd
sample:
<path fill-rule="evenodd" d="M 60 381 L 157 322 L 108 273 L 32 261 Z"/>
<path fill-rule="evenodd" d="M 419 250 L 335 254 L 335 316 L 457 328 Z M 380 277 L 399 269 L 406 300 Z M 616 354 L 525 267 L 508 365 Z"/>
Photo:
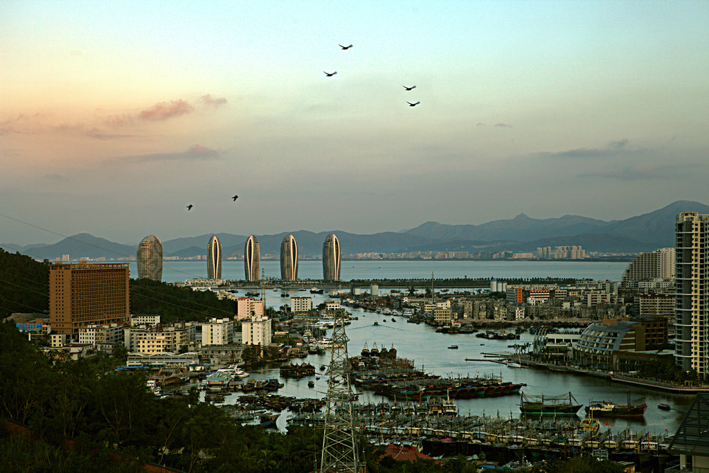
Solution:
<path fill-rule="evenodd" d="M 49 308 L 49 262 L 0 249 L 0 320 L 13 312 Z"/>

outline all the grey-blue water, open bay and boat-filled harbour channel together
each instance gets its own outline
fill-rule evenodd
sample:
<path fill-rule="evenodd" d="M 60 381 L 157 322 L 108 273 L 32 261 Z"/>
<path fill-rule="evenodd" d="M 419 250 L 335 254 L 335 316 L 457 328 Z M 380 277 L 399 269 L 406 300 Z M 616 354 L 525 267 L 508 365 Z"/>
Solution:
<path fill-rule="evenodd" d="M 262 268 L 267 278 L 279 277 L 278 261 L 262 261 Z M 346 286 L 350 279 L 430 279 L 431 274 L 436 279 L 446 278 L 545 278 L 569 277 L 576 279 L 596 279 L 619 281 L 627 262 L 510 262 L 510 261 L 344 261 L 342 262 L 342 282 Z M 165 262 L 163 279 L 167 282 L 180 281 L 192 277 L 206 275 L 206 262 Z M 135 267 L 131 268 L 131 274 Z M 222 277 L 225 279 L 242 279 L 243 262 L 224 262 Z M 298 277 L 316 280 L 322 277 L 322 262 L 305 260 L 298 262 Z M 307 284 L 306 289 L 316 285 Z M 304 285 L 305 286 L 305 285 Z M 388 289 L 380 289 L 386 293 Z M 291 290 L 292 291 L 292 290 Z M 298 294 L 298 292 L 294 293 Z M 327 299 L 327 294 L 308 294 L 313 297 L 313 306 Z M 285 304 L 280 291 L 266 291 L 266 305 L 279 307 Z M 544 369 L 509 368 L 506 365 L 486 359 L 486 354 L 503 354 L 512 352 L 508 345 L 514 343 L 532 342 L 534 335 L 523 333 L 520 340 L 486 340 L 476 338 L 473 334 L 436 333 L 435 328 L 428 325 L 407 323 L 406 318 L 381 316 L 358 308 L 347 308 L 352 317 L 352 325 L 347 325 L 349 338 L 347 350 L 350 355 L 359 355 L 364 344 L 372 348 L 391 348 L 398 351 L 398 356 L 415 362 L 416 367 L 426 372 L 439 374 L 442 377 L 458 377 L 468 375 L 495 376 L 505 381 L 524 383 L 522 391 L 528 395 L 556 396 L 571 392 L 579 404 L 587 406 L 593 401 L 627 402 L 628 396 L 633 404 L 647 403 L 648 408 L 644 419 L 602 419 L 603 430 L 611 429 L 618 433 L 625 428 L 652 435 L 674 434 L 681 423 L 689 404 L 691 395 L 669 394 L 663 391 L 642 389 L 625 384 L 610 382 L 606 379 L 586 377 L 576 374 L 551 372 Z M 392 321 L 392 318 L 394 321 Z M 378 325 L 374 325 L 374 321 Z M 328 333 L 329 335 L 330 333 Z M 458 345 L 457 350 L 449 349 L 450 345 Z M 485 361 L 467 361 L 466 358 Z M 311 362 L 316 367 L 329 365 L 328 355 L 308 355 L 303 360 Z M 303 379 L 281 379 L 285 386 L 278 393 L 285 396 L 323 398 L 327 392 L 328 377 L 319 369 L 316 376 Z M 279 377 L 279 369 L 263 368 L 252 372 L 252 377 L 268 379 Z M 308 388 L 308 381 L 315 381 L 314 388 Z M 227 396 L 226 403 L 235 403 L 238 396 Z M 359 396 L 359 402 L 379 403 L 384 398 L 364 391 Z M 391 402 L 391 401 L 389 401 Z M 459 413 L 473 416 L 520 416 L 520 396 L 510 395 L 495 398 L 467 399 L 457 402 Z M 662 411 L 658 404 L 669 404 L 670 411 Z M 580 416 L 584 412 L 580 411 Z M 279 429 L 286 427 L 288 411 L 284 411 L 278 421 Z"/>

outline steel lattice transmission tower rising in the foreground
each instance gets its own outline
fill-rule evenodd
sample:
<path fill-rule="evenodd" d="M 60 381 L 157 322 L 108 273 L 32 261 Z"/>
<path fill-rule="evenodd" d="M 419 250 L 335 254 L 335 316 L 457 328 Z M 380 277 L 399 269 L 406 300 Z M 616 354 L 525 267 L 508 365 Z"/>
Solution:
<path fill-rule="evenodd" d="M 320 473 L 363 473 L 359 461 L 357 431 L 354 428 L 354 395 L 350 385 L 350 359 L 347 357 L 345 311 L 335 311 L 332 358 L 325 396 L 325 435 Z"/>

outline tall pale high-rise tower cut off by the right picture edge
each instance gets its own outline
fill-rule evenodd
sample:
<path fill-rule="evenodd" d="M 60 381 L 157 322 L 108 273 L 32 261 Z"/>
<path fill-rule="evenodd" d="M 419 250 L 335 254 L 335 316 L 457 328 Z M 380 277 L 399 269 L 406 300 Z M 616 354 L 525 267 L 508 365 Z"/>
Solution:
<path fill-rule="evenodd" d="M 709 214 L 682 212 L 675 222 L 675 362 L 709 373 Z"/>

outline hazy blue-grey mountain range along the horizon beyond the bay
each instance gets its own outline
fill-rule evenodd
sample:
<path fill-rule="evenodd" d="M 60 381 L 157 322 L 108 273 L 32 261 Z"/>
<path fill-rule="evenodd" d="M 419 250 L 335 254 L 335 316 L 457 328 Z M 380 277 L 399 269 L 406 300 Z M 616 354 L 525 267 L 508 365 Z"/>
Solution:
<path fill-rule="evenodd" d="M 583 216 L 566 215 L 559 218 L 531 218 L 524 213 L 508 220 L 497 220 L 481 225 L 447 225 L 426 222 L 401 232 L 357 235 L 333 230 L 340 239 L 342 252 L 411 252 L 428 250 L 459 251 L 534 251 L 537 247 L 581 245 L 587 251 L 639 252 L 659 247 L 674 246 L 674 220 L 678 213 L 697 211 L 709 213 L 709 206 L 700 202 L 676 201 L 657 211 L 618 221 L 602 221 Z M 145 235 L 150 234 L 146 229 Z M 328 233 L 307 230 L 257 235 L 261 254 L 279 255 L 281 240 L 292 233 L 303 256 L 320 255 Z M 212 233 L 163 240 L 163 255 L 192 257 L 205 255 Z M 225 256 L 240 256 L 248 235 L 216 233 Z M 157 235 L 160 238 L 160 235 Z M 162 238 L 161 238 L 162 240 Z M 135 256 L 135 245 L 121 245 L 89 233 L 79 233 L 52 245 L 16 245 L 2 243 L 6 251 L 19 251 L 35 258 L 54 260 L 62 255 L 78 257 L 121 258 Z"/>

